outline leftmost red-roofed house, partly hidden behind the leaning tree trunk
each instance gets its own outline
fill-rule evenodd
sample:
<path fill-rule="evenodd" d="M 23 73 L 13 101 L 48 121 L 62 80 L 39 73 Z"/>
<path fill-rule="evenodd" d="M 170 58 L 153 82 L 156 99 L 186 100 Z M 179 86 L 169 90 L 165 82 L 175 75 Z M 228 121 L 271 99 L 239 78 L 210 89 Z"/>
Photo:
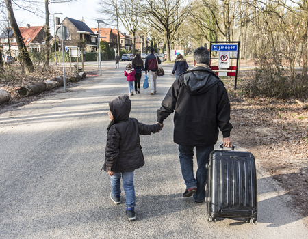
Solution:
<path fill-rule="evenodd" d="M 45 47 L 45 29 L 44 26 L 31 27 L 27 24 L 27 27 L 19 27 L 23 41 L 28 48 L 29 52 L 41 52 Z M 12 57 L 18 57 L 18 46 L 12 28 L 6 29 L 0 35 L 0 42 L 3 47 L 4 55 L 12 55 Z M 10 47 L 9 47 L 10 44 Z M 10 48 L 10 53 L 9 53 Z"/>

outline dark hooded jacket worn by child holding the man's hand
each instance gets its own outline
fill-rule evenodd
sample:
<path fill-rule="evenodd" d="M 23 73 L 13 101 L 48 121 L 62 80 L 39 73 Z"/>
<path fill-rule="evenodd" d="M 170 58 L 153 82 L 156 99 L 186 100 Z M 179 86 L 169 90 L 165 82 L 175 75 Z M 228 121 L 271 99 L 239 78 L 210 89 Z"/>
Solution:
<path fill-rule="evenodd" d="M 144 165 L 139 135 L 158 132 L 160 124 L 147 125 L 129 118 L 131 100 L 127 95 L 112 100 L 109 106 L 114 122 L 107 132 L 103 169 L 114 173 L 138 169 Z"/>

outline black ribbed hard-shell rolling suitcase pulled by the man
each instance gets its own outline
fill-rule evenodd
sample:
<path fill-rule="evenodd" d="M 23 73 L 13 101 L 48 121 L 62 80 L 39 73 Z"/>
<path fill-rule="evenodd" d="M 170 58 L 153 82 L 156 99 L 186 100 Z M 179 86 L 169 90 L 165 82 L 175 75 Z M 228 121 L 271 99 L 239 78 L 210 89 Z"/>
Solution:
<path fill-rule="evenodd" d="M 250 152 L 214 150 L 207 173 L 207 221 L 216 217 L 244 218 L 257 224 L 257 175 Z"/>

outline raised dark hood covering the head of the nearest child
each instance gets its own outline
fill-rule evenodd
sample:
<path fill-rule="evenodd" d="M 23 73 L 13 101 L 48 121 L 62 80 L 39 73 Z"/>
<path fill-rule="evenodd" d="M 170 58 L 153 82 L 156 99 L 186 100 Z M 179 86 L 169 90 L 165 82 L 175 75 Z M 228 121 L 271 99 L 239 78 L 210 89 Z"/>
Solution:
<path fill-rule="evenodd" d="M 127 121 L 131 112 L 131 100 L 127 95 L 118 96 L 118 98 L 109 102 L 109 108 L 114 116 L 114 123 Z"/>

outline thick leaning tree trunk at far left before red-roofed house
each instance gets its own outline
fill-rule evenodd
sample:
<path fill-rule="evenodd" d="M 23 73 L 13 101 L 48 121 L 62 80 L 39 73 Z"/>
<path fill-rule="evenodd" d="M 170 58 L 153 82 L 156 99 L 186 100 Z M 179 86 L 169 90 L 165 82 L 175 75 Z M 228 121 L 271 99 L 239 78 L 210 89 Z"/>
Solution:
<path fill-rule="evenodd" d="M 21 31 L 19 30 L 18 25 L 16 23 L 16 19 L 15 19 L 13 7 L 12 7 L 12 1 L 5 0 L 5 4 L 8 10 L 8 18 L 10 20 L 10 24 L 11 24 L 16 42 L 17 42 L 19 55 L 21 56 L 21 61 L 23 61 L 23 65 L 25 66 L 26 74 L 29 74 L 29 72 L 34 72 L 34 66 L 30 59 L 27 47 L 25 46 L 25 42 L 23 42 Z"/>

